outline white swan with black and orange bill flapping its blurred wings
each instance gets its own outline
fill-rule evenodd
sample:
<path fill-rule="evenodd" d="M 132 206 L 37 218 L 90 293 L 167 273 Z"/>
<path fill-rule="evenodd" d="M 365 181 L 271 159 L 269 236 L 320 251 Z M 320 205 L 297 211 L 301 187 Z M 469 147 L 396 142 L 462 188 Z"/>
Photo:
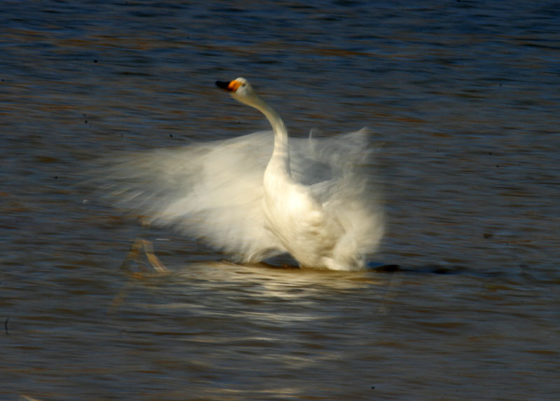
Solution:
<path fill-rule="evenodd" d="M 282 118 L 246 79 L 216 86 L 260 111 L 272 132 L 122 156 L 103 172 L 117 203 L 241 263 L 288 252 L 304 268 L 363 269 L 384 233 L 365 171 L 367 130 L 288 139 Z"/>

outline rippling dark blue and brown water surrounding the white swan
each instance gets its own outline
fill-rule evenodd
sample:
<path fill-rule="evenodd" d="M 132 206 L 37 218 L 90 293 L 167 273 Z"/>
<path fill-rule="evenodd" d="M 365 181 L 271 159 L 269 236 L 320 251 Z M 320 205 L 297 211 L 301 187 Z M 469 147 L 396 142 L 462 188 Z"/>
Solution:
<path fill-rule="evenodd" d="M 0 398 L 556 400 L 559 14 L 3 2 Z M 236 266 L 83 203 L 98 156 L 267 128 L 237 76 L 294 136 L 375 131 L 399 269 Z M 118 269 L 137 236 L 171 274 Z"/>

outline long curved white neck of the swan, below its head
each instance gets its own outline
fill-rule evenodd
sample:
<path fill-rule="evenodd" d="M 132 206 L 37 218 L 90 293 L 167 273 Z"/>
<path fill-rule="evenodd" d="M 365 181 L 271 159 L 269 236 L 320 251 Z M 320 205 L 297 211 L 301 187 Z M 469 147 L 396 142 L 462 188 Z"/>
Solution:
<path fill-rule="evenodd" d="M 282 121 L 280 115 L 270 107 L 264 100 L 257 97 L 255 103 L 251 104 L 265 115 L 272 130 L 274 130 L 274 151 L 272 158 L 267 166 L 267 170 L 272 169 L 276 172 L 283 172 L 284 175 L 290 177 L 290 147 L 288 145 L 288 130 Z"/>

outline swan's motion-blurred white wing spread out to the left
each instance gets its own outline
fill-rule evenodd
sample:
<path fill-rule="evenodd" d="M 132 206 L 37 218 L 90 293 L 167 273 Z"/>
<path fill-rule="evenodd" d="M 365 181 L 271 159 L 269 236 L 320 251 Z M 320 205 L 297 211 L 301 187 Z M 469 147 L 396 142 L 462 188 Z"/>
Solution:
<path fill-rule="evenodd" d="M 174 226 L 252 262 L 286 252 L 265 229 L 262 177 L 272 132 L 104 161 L 104 191 L 117 205 Z"/>

